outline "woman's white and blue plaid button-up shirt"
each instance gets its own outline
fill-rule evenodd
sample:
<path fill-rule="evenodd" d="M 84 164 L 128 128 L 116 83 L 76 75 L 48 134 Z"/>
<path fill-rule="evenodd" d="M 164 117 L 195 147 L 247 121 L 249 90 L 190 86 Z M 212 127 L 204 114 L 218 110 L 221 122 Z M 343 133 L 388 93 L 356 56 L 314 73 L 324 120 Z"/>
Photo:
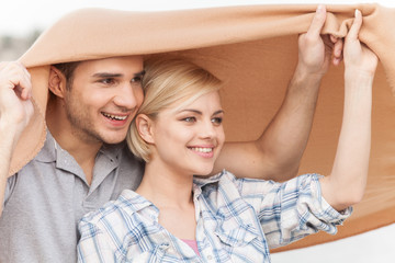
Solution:
<path fill-rule="evenodd" d="M 320 195 L 317 174 L 285 183 L 222 173 L 194 179 L 200 256 L 158 224 L 159 209 L 125 190 L 79 224 L 79 262 L 270 262 L 269 248 L 336 226 L 351 208 L 336 211 Z"/>

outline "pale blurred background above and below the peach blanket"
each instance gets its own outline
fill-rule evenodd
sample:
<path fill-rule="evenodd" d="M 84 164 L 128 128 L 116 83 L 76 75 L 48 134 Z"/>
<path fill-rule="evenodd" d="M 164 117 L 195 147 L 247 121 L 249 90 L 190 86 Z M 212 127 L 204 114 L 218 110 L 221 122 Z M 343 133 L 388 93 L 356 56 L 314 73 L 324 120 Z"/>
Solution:
<path fill-rule="evenodd" d="M 133 11 L 162 11 L 242 4 L 354 4 L 376 2 L 395 8 L 392 0 L 12 0 L 3 1 L 0 8 L 0 61 L 18 59 L 34 43 L 38 35 L 61 15 L 80 8 L 108 8 Z M 395 191 L 395 190 L 394 190 Z M 395 218 L 395 215 L 394 215 Z M 374 231 L 315 245 L 307 249 L 272 254 L 273 263 L 394 263 L 395 225 Z"/>

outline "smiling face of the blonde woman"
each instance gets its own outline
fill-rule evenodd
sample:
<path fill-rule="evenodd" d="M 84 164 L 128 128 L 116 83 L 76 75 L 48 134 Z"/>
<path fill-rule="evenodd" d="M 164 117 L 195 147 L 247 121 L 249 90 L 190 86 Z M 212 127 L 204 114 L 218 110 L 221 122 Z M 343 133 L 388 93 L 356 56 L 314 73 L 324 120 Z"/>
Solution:
<path fill-rule="evenodd" d="M 151 161 L 182 174 L 207 175 L 225 141 L 224 112 L 217 91 L 161 111 L 153 124 Z"/>

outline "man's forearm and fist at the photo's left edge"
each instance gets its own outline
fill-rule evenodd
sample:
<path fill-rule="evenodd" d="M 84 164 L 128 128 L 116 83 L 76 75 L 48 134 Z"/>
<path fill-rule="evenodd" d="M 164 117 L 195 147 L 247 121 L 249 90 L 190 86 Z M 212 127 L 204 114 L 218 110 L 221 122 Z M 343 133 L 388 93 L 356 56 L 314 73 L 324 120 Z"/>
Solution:
<path fill-rule="evenodd" d="M 30 73 L 20 62 L 0 64 L 0 215 L 18 139 L 32 114 Z"/>

